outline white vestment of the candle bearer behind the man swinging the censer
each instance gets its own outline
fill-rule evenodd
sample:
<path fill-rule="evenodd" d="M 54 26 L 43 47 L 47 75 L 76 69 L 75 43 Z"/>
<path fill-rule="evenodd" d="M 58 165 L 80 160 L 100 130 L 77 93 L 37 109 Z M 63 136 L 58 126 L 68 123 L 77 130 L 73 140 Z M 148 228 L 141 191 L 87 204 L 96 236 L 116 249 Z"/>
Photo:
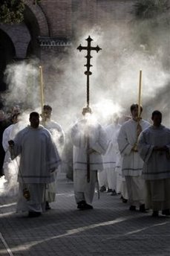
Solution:
<path fill-rule="evenodd" d="M 62 156 L 62 150 L 65 146 L 65 132 L 62 127 L 53 120 L 47 120 L 43 123 L 43 126 L 50 132 L 53 142 L 56 144 L 59 156 Z M 58 167 L 60 172 L 61 164 Z M 54 175 L 54 182 L 50 182 L 46 188 L 46 200 L 48 202 L 54 202 L 56 199 L 56 173 Z"/>

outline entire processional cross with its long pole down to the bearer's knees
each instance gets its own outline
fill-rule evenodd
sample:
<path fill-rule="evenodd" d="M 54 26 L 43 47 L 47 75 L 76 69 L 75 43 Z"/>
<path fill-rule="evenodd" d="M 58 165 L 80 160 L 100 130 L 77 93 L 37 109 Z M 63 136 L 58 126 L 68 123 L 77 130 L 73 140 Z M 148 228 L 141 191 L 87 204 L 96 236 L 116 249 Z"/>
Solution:
<path fill-rule="evenodd" d="M 89 107 L 90 105 L 90 83 L 89 83 L 89 77 L 92 74 L 92 72 L 90 71 L 90 68 L 93 66 L 91 65 L 91 51 L 98 51 L 102 50 L 101 48 L 99 48 L 99 45 L 97 45 L 96 47 L 92 47 L 91 46 L 91 41 L 93 41 L 93 39 L 91 39 L 91 36 L 88 36 L 87 39 L 85 39 L 86 41 L 88 41 L 88 45 L 87 46 L 82 46 L 79 45 L 79 47 L 77 47 L 77 50 L 82 51 L 82 50 L 86 50 L 88 52 L 87 56 L 85 56 L 85 58 L 87 59 L 87 63 L 85 64 L 85 67 L 87 67 L 87 70 L 85 71 L 85 75 L 87 76 L 87 107 Z M 89 135 L 87 135 L 87 182 L 90 182 L 90 153 L 88 153 L 88 150 L 90 149 L 90 140 L 89 140 Z"/>

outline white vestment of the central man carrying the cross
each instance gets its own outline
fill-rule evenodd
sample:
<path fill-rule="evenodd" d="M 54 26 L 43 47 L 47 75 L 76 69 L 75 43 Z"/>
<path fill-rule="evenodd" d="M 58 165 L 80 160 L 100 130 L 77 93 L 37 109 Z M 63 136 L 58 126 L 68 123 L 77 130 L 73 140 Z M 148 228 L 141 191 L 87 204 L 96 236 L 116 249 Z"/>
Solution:
<path fill-rule="evenodd" d="M 95 150 L 90 154 L 90 182 L 87 182 L 87 133 L 89 145 Z M 82 119 L 73 125 L 71 129 L 73 142 L 73 182 L 76 202 L 84 198 L 92 202 L 96 182 L 97 170 L 102 170 L 102 154 L 105 154 L 108 141 L 104 129 L 97 122 L 88 125 L 88 121 Z"/>

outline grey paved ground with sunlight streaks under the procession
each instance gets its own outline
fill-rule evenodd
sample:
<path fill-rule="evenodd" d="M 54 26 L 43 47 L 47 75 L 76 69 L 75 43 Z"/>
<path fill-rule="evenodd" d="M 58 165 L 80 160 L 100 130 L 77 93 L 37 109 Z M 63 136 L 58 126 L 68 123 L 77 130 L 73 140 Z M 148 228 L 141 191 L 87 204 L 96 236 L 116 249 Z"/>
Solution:
<path fill-rule="evenodd" d="M 170 255 L 170 217 L 131 212 L 109 193 L 100 199 L 95 193 L 94 210 L 79 211 L 73 182 L 62 173 L 58 185 L 56 202 L 41 217 L 16 214 L 15 202 L 1 203 L 0 255 Z"/>

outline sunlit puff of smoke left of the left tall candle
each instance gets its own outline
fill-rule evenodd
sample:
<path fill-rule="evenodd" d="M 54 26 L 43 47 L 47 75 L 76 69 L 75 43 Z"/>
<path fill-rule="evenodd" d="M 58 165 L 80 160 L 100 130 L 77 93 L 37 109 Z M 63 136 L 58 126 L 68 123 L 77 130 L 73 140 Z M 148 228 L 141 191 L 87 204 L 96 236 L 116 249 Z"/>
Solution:
<path fill-rule="evenodd" d="M 8 106 L 17 103 L 24 109 L 35 109 L 40 102 L 39 67 L 36 60 L 7 65 L 5 70 L 8 90 L 4 95 Z"/>

